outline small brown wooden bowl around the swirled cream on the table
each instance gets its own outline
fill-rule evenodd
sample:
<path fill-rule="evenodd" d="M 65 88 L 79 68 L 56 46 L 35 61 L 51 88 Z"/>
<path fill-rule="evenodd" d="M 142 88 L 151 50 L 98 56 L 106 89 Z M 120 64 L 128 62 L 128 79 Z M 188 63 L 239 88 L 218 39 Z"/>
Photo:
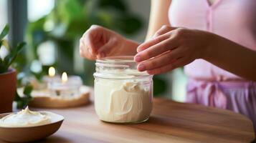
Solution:
<path fill-rule="evenodd" d="M 48 114 L 49 112 L 40 112 L 41 114 Z M 0 114 L 0 119 L 8 114 Z M 7 142 L 32 142 L 39 139 L 49 137 L 60 128 L 64 117 L 59 116 L 49 124 L 34 126 L 34 127 L 0 127 L 0 139 Z"/>

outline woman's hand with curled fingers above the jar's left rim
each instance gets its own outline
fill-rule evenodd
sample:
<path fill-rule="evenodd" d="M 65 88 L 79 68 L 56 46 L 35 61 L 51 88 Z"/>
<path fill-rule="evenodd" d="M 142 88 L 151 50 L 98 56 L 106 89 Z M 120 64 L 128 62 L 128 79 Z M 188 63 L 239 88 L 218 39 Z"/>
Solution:
<path fill-rule="evenodd" d="M 120 34 L 102 26 L 93 25 L 80 39 L 80 55 L 91 60 L 105 56 L 118 56 L 125 52 L 124 42 L 125 38 Z"/>

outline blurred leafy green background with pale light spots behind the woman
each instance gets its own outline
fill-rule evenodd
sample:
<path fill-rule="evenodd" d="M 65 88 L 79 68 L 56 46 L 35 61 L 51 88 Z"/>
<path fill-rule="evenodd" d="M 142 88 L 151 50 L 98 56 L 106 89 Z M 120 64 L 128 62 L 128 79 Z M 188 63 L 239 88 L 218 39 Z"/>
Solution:
<path fill-rule="evenodd" d="M 94 61 L 79 55 L 79 39 L 92 25 L 105 26 L 143 42 L 148 28 L 148 0 L 0 0 L 0 30 L 10 25 L 11 45 L 26 41 L 14 64 L 18 78 L 40 80 L 54 66 L 60 74 L 77 74 L 93 86 Z M 0 56 L 6 53 L 0 50 Z M 186 76 L 183 68 L 156 75 L 154 95 L 183 102 Z"/>

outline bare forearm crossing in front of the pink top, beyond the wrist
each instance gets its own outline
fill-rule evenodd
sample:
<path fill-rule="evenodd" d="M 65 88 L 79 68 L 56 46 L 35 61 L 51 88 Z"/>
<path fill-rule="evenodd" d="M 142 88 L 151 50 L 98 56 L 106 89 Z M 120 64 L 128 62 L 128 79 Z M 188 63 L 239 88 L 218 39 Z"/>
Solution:
<path fill-rule="evenodd" d="M 212 37 L 203 59 L 240 77 L 256 81 L 256 51 L 221 36 Z"/>

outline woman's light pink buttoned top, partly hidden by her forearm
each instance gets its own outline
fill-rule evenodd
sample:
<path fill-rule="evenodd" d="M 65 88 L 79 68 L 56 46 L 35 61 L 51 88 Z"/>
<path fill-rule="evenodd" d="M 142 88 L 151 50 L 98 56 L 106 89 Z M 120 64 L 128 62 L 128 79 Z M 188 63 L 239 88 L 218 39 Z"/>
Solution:
<path fill-rule="evenodd" d="M 255 0 L 216 0 L 212 6 L 207 0 L 172 0 L 169 19 L 171 26 L 211 31 L 256 50 L 255 7 Z M 203 59 L 196 59 L 186 65 L 185 72 L 194 79 L 243 80 Z"/>

